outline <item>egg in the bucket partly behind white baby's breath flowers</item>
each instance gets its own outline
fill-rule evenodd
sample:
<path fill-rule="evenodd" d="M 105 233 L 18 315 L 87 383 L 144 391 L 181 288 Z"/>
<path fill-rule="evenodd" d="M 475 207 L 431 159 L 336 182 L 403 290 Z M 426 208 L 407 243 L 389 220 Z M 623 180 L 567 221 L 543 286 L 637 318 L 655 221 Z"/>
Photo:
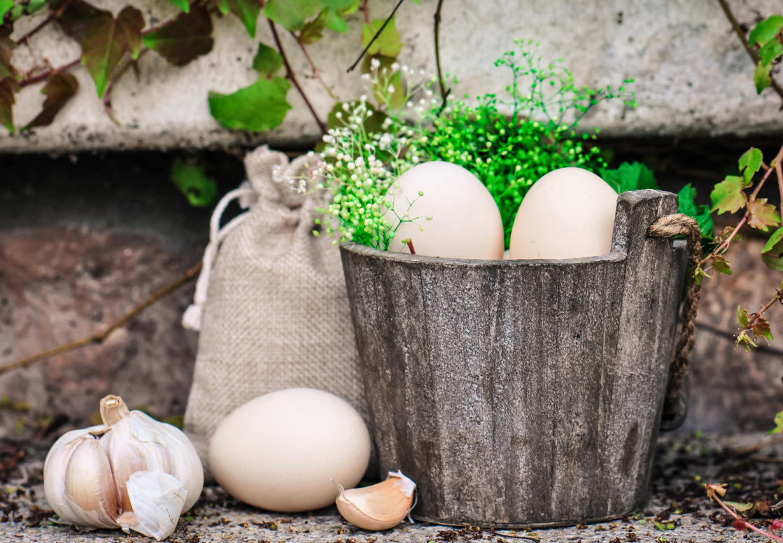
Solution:
<path fill-rule="evenodd" d="M 386 201 L 393 202 L 384 213 L 392 228 L 406 214 L 414 219 L 399 224 L 389 251 L 410 252 L 402 243 L 410 238 L 417 255 L 503 258 L 500 210 L 489 190 L 462 166 L 442 161 L 413 166 L 391 186 Z"/>

